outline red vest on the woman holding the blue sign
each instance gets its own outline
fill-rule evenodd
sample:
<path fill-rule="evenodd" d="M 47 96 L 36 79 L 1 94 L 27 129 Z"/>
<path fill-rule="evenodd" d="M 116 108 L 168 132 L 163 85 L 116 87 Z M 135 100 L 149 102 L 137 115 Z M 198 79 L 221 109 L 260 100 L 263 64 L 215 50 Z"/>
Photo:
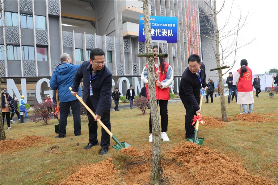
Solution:
<path fill-rule="evenodd" d="M 147 64 L 145 66 L 147 67 Z M 161 67 L 159 65 L 160 76 L 158 76 L 158 81 L 161 82 L 161 81 L 165 80 L 168 66 L 169 66 L 169 64 L 164 62 L 165 73 L 162 74 Z M 154 67 L 154 73 L 156 73 L 156 72 L 157 72 L 157 68 Z M 149 86 L 148 85 L 146 85 L 146 89 L 147 89 L 147 99 L 149 100 Z M 157 100 L 169 100 L 169 98 L 170 98 L 169 87 L 162 89 L 162 88 L 156 86 L 156 84 L 155 84 L 155 91 L 156 91 L 156 99 Z"/>

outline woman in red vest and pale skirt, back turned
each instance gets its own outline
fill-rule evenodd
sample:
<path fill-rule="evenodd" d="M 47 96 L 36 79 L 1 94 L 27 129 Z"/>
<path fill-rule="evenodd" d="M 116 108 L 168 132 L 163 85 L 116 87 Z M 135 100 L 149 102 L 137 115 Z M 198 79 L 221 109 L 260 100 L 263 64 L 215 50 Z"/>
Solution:
<path fill-rule="evenodd" d="M 241 68 L 238 69 L 236 75 L 236 82 L 238 86 L 238 104 L 242 105 L 243 114 L 253 112 L 253 84 L 252 84 L 252 70 L 247 67 L 247 60 L 242 59 L 240 61 Z M 249 110 L 247 112 L 247 104 Z"/>

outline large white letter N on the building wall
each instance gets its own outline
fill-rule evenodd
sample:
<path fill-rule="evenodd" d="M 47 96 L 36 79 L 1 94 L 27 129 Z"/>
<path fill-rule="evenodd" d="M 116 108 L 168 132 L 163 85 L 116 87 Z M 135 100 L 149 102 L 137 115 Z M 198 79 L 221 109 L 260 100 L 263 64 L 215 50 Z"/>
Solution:
<path fill-rule="evenodd" d="M 18 88 L 15 85 L 15 81 L 13 79 L 7 79 L 7 89 L 8 89 L 8 93 L 14 97 L 14 93 L 15 92 L 15 96 L 20 100 L 21 95 L 23 95 L 24 98 L 24 102 L 27 103 L 27 90 L 26 90 L 26 79 L 22 78 L 20 79 L 21 81 L 21 94 L 18 90 Z"/>

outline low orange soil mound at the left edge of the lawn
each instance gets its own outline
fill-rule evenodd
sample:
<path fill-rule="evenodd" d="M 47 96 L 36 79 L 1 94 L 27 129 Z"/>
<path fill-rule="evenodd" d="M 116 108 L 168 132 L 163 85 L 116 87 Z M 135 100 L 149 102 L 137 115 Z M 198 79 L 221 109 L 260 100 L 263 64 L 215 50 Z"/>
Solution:
<path fill-rule="evenodd" d="M 32 146 L 33 144 L 42 142 L 44 140 L 45 138 L 40 136 L 25 136 L 21 139 L 0 141 L 0 153 L 10 150 L 19 150 L 21 148 Z"/>

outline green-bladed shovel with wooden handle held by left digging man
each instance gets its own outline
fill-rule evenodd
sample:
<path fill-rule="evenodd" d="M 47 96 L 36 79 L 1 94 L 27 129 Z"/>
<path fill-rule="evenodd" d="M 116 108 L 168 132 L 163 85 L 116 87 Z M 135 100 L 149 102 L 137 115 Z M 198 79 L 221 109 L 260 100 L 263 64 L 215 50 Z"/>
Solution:
<path fill-rule="evenodd" d="M 71 91 L 71 87 L 69 89 Z M 95 113 L 86 105 L 86 103 L 77 94 L 75 95 L 75 97 L 84 105 L 84 107 L 92 114 L 92 116 L 95 117 Z M 123 148 L 127 148 L 131 146 L 126 142 L 119 142 L 118 139 L 112 134 L 112 132 L 107 129 L 107 127 L 103 124 L 103 122 L 100 121 L 100 119 L 97 119 L 97 121 L 102 126 L 102 128 L 110 135 L 110 137 L 116 142 L 116 145 L 112 146 L 114 149 L 119 151 Z"/>

